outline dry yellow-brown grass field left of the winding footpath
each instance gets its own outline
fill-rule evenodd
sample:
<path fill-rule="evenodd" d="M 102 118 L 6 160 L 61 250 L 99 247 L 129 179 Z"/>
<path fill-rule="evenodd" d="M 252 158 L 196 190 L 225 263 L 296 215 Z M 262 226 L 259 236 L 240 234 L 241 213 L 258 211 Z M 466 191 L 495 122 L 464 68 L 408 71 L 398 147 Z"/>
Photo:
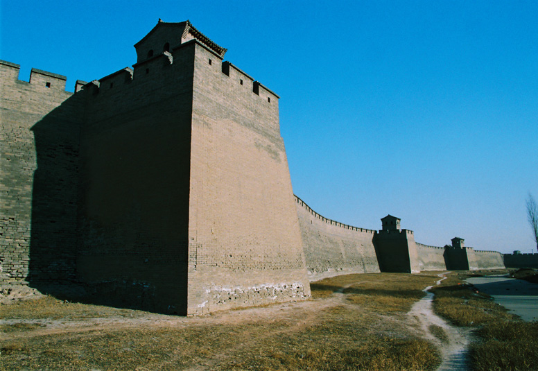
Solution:
<path fill-rule="evenodd" d="M 345 275 L 313 283 L 306 302 L 195 318 L 53 297 L 2 305 L 0 369 L 435 370 L 440 354 L 407 312 L 437 279 Z"/>

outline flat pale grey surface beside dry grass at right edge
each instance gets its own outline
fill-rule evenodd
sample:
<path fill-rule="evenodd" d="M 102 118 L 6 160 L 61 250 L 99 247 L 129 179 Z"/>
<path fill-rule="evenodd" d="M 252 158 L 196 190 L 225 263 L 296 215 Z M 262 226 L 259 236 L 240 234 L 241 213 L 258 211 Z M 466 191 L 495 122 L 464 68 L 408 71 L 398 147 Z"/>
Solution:
<path fill-rule="evenodd" d="M 504 276 L 467 279 L 478 291 L 494 297 L 495 302 L 517 314 L 522 320 L 538 320 L 538 284 Z"/>

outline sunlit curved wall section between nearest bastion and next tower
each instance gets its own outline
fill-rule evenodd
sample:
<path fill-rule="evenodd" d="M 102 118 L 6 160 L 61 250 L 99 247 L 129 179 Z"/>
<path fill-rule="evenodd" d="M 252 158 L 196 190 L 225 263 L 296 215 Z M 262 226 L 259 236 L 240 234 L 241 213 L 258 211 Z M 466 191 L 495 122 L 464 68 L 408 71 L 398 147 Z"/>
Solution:
<path fill-rule="evenodd" d="M 309 279 L 349 273 L 377 273 L 374 230 L 324 218 L 295 196 Z"/>

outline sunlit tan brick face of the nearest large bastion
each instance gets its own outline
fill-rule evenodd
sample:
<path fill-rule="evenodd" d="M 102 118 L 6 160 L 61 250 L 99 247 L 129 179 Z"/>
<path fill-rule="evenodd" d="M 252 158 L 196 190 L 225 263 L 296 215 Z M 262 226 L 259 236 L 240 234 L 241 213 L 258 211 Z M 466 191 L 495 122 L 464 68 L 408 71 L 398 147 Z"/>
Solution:
<path fill-rule="evenodd" d="M 189 313 L 310 296 L 278 96 L 196 44 Z"/>

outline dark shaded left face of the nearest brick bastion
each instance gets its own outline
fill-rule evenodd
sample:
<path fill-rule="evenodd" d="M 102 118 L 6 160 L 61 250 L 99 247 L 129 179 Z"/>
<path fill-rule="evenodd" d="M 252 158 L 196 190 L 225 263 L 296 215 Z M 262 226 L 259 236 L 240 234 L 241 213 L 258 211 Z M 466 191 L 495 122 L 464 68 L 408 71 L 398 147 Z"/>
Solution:
<path fill-rule="evenodd" d="M 96 297 L 186 314 L 194 44 L 86 85 L 78 276 Z"/>

